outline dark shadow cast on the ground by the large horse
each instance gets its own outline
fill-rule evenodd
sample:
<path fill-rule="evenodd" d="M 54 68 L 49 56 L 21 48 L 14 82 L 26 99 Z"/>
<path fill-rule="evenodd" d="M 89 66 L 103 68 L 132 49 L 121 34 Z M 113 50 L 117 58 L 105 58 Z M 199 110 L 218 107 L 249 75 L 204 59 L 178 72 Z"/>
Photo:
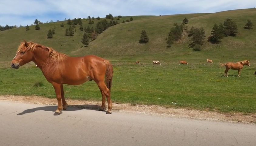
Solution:
<path fill-rule="evenodd" d="M 84 104 L 84 105 L 70 105 L 67 107 L 67 109 L 65 111 L 77 111 L 77 110 L 81 110 L 81 109 L 89 109 L 89 110 L 96 110 L 96 111 L 100 111 L 101 106 L 98 105 L 89 105 L 89 104 Z M 22 113 L 18 113 L 17 115 L 24 115 L 26 113 L 33 113 L 35 111 L 39 111 L 39 110 L 43 110 L 46 112 L 55 112 L 55 110 L 57 109 L 57 105 L 56 106 L 41 106 L 41 107 L 36 107 L 36 108 L 32 108 L 32 109 L 26 109 L 24 110 Z M 107 113 L 105 110 L 102 111 Z M 62 113 L 62 112 L 61 112 Z"/>

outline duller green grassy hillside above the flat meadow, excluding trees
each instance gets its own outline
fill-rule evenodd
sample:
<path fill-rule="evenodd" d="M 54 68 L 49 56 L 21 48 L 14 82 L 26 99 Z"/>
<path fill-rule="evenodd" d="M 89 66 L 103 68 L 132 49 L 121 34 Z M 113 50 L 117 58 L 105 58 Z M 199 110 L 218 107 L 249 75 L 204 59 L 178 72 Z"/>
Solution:
<path fill-rule="evenodd" d="M 19 40 L 33 41 L 45 46 L 53 47 L 57 51 L 66 53 L 71 56 L 81 56 L 87 54 L 95 54 L 97 56 L 125 59 L 133 57 L 136 59 L 159 59 L 161 56 L 164 59 L 172 58 L 190 58 L 197 60 L 204 56 L 211 58 L 224 59 L 253 59 L 255 48 L 256 29 L 246 30 L 244 25 L 250 19 L 252 23 L 256 23 L 256 9 L 241 9 L 223 11 L 218 13 L 207 14 L 178 14 L 165 16 L 132 16 L 133 21 L 122 23 L 129 17 L 122 17 L 118 22 L 120 24 L 109 27 L 103 33 L 97 36 L 97 39 L 90 42 L 88 47 L 83 47 L 81 38 L 84 31 L 79 30 L 79 25 L 76 26 L 74 36 L 65 36 L 65 29 L 68 27 L 67 21 L 59 21 L 47 24 L 39 24 L 41 29 L 35 30 L 35 25 L 29 26 L 30 30 L 26 31 L 25 27 L 19 27 L 11 30 L 0 32 L 0 61 L 11 60 L 15 55 Z M 191 42 L 190 38 L 183 36 L 183 39 L 171 48 L 166 48 L 166 36 L 169 33 L 173 23 L 181 23 L 183 18 L 187 17 L 189 23 L 185 24 L 190 27 L 203 27 L 206 32 L 206 38 L 210 36 L 214 23 L 223 23 L 225 19 L 233 19 L 238 27 L 238 36 L 225 37 L 220 44 L 206 43 L 200 52 L 195 52 L 188 48 Z M 117 17 L 114 17 L 114 20 Z M 70 18 L 73 19 L 73 18 Z M 101 18 L 101 20 L 104 18 Z M 40 20 L 40 18 L 39 18 Z M 89 21 L 82 19 L 83 27 L 87 25 L 95 27 L 94 24 L 88 24 Z M 110 21 L 108 19 L 108 21 Z M 60 27 L 61 23 L 64 27 Z M 47 39 L 48 30 L 55 27 L 55 34 L 52 39 Z M 140 33 L 146 30 L 149 36 L 149 42 L 146 44 L 138 43 Z M 207 40 L 207 39 L 206 39 Z M 223 60 L 223 59 L 222 59 Z"/>

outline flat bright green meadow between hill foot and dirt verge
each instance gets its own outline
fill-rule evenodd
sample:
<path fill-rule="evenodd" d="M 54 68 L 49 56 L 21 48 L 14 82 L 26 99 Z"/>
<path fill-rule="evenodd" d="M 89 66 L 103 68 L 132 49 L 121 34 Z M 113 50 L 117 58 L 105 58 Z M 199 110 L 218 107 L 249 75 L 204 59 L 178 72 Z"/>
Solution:
<path fill-rule="evenodd" d="M 254 70 L 248 66 L 243 68 L 240 78 L 234 70 L 230 70 L 227 78 L 221 77 L 224 68 L 217 64 L 179 66 L 178 63 L 163 62 L 160 66 L 113 61 L 113 65 L 113 102 L 256 113 L 256 81 Z M 52 85 L 39 68 L 1 68 L 0 75 L 0 94 L 56 98 Z M 35 87 L 37 82 L 42 82 L 42 86 Z M 79 86 L 64 85 L 64 91 L 68 91 L 65 97 L 69 99 L 101 100 L 94 81 Z"/>

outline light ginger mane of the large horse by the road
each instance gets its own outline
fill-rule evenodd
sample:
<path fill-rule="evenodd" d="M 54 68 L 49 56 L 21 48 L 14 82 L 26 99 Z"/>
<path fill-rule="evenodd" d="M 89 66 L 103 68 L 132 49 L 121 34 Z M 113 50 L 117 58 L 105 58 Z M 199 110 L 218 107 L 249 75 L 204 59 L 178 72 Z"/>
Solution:
<path fill-rule="evenodd" d="M 43 46 L 43 45 L 40 45 L 40 44 L 34 43 L 34 42 L 28 42 L 27 46 L 25 46 L 25 43 L 22 42 L 19 45 L 17 52 L 21 51 L 24 47 L 26 47 L 25 51 L 34 51 L 34 50 L 39 49 L 39 48 L 46 48 L 49 51 L 49 54 L 48 54 L 49 57 L 51 57 L 53 59 L 53 61 L 63 61 L 67 58 L 66 54 L 57 52 L 56 50 L 54 50 L 51 47 Z"/>

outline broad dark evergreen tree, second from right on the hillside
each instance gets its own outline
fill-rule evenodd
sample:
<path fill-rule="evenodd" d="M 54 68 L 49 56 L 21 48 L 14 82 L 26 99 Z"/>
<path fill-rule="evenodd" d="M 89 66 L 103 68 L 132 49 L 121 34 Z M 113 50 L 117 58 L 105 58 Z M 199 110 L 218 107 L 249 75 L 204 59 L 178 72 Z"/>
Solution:
<path fill-rule="evenodd" d="M 224 21 L 224 29 L 225 29 L 225 35 L 226 36 L 236 36 L 238 33 L 237 30 L 237 24 L 230 18 L 227 18 Z"/>

